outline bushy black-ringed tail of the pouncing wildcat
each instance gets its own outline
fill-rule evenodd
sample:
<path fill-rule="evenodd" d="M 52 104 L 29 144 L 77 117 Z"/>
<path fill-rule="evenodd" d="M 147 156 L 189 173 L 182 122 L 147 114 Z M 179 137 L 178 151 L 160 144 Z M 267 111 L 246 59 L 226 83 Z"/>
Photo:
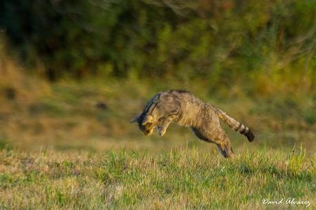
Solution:
<path fill-rule="evenodd" d="M 240 132 L 242 135 L 245 135 L 248 141 L 253 141 L 253 139 L 255 139 L 255 135 L 253 135 L 253 132 L 251 132 L 247 126 L 244 126 L 239 121 L 233 119 L 233 117 L 229 117 L 227 113 L 223 112 L 219 108 L 216 108 L 216 113 L 218 114 L 218 117 L 220 117 L 220 119 L 222 119 L 222 121 L 227 124 L 227 126 L 236 132 Z"/>

